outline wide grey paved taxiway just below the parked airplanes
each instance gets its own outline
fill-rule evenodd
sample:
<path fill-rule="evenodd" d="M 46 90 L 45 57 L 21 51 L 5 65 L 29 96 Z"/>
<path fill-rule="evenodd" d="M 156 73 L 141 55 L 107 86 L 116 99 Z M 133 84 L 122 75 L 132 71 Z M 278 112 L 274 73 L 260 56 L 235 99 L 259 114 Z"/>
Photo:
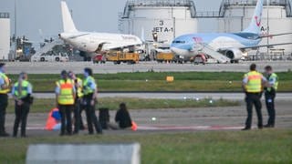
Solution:
<path fill-rule="evenodd" d="M 253 62 L 240 62 L 239 64 L 158 64 L 157 62 L 141 62 L 136 65 L 93 64 L 92 62 L 10 62 L 7 63 L 7 74 L 19 74 L 22 71 L 28 74 L 59 74 L 61 70 L 72 70 L 82 73 L 84 67 L 91 67 L 96 74 L 119 72 L 246 72 Z M 276 72 L 292 70 L 292 61 L 256 61 L 258 70 L 264 70 L 266 65 L 274 67 Z"/>

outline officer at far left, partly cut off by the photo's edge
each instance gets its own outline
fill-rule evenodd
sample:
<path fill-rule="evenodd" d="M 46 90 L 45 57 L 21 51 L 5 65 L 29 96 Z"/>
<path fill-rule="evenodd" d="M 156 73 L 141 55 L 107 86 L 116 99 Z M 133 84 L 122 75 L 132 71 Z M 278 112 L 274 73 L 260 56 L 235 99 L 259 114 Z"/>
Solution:
<path fill-rule="evenodd" d="M 5 131 L 5 114 L 8 106 L 10 79 L 5 75 L 5 63 L 0 63 L 0 137 L 9 136 Z"/>

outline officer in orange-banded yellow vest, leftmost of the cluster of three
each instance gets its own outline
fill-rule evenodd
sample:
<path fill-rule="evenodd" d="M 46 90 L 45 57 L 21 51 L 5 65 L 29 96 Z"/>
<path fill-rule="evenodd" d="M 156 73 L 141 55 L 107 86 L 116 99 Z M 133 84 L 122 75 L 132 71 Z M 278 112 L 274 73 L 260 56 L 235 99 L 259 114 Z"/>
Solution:
<path fill-rule="evenodd" d="M 74 82 L 68 78 L 68 73 L 63 70 L 61 72 L 61 79 L 56 82 L 56 101 L 57 108 L 61 115 L 61 133 L 60 136 L 65 135 L 65 126 L 67 128 L 67 135 L 72 134 L 71 112 L 74 108 L 74 100 L 76 90 Z"/>

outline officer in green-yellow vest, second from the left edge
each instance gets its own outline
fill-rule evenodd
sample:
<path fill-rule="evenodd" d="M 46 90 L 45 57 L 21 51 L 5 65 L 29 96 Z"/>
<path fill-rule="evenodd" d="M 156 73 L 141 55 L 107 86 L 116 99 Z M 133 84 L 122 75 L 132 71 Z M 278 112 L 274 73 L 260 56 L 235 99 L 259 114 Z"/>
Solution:
<path fill-rule="evenodd" d="M 16 101 L 16 119 L 13 128 L 13 137 L 16 138 L 18 126 L 21 122 L 21 137 L 26 138 L 26 120 L 29 113 L 29 108 L 32 103 L 32 86 L 27 81 L 27 74 L 20 73 L 18 81 L 12 87 L 12 96 Z"/>

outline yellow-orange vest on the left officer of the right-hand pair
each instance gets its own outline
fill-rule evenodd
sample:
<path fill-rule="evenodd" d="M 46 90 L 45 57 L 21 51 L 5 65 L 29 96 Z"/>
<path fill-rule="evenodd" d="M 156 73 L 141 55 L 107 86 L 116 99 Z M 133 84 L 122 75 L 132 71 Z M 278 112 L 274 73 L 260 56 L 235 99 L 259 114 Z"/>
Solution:
<path fill-rule="evenodd" d="M 247 84 L 245 90 L 248 93 L 259 93 L 262 91 L 262 74 L 256 71 L 251 71 L 245 74 Z"/>

